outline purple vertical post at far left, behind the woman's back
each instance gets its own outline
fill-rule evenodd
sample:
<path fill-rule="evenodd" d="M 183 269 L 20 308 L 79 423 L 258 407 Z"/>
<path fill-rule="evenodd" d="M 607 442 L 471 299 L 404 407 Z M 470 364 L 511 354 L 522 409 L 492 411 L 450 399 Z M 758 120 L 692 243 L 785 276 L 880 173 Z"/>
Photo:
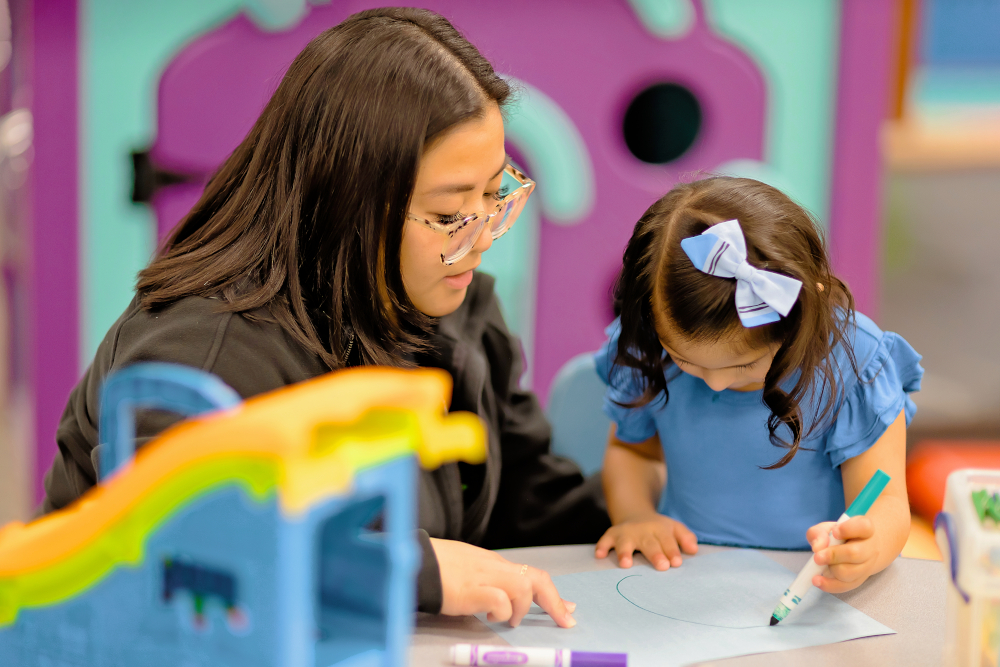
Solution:
<path fill-rule="evenodd" d="M 34 0 L 31 10 L 30 377 L 35 395 L 35 492 L 79 377 L 77 3 Z"/>

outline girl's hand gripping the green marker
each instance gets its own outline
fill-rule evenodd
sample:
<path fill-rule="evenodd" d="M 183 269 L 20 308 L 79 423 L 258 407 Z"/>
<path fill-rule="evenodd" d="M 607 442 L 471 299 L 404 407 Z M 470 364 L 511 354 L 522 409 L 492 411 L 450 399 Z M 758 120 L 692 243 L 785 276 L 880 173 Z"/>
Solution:
<path fill-rule="evenodd" d="M 835 538 L 844 540 L 840 546 L 830 546 L 831 529 Z M 844 593 L 863 584 L 880 569 L 874 538 L 875 526 L 866 516 L 855 516 L 841 524 L 825 521 L 806 531 L 816 564 L 828 566 L 823 574 L 813 577 L 813 586 L 827 593 Z"/>

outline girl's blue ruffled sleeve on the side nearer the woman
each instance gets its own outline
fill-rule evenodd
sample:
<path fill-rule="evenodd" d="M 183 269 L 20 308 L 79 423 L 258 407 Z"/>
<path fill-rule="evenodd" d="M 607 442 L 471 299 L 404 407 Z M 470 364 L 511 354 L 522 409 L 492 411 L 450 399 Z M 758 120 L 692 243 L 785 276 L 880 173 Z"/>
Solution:
<path fill-rule="evenodd" d="M 605 329 L 604 333 L 608 335 L 608 339 L 594 353 L 594 362 L 597 374 L 607 385 L 604 393 L 604 414 L 615 423 L 616 437 L 623 442 L 640 443 L 656 435 L 654 404 L 658 402 L 653 401 L 638 408 L 621 405 L 641 396 L 643 387 L 639 371 L 616 366 L 614 363 L 620 332 L 619 320 L 615 320 Z"/>

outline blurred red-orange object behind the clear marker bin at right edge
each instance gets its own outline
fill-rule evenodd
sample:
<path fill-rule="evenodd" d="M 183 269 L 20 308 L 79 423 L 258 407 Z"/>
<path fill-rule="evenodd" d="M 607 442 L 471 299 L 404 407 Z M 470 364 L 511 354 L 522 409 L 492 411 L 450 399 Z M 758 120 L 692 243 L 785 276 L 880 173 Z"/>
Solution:
<path fill-rule="evenodd" d="M 906 462 L 913 511 L 931 524 L 944 504 L 948 475 L 960 468 L 1000 470 L 1000 440 L 924 440 Z"/>

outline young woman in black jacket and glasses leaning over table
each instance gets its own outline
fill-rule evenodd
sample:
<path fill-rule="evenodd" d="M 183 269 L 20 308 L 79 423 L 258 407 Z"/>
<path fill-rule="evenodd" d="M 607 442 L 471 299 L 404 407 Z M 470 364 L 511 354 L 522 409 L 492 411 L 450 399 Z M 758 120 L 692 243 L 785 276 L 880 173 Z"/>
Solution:
<path fill-rule="evenodd" d="M 572 626 L 544 572 L 480 548 L 594 541 L 610 525 L 599 484 L 549 454 L 519 344 L 475 273 L 533 188 L 504 152 L 509 92 L 428 11 L 361 12 L 314 39 L 140 273 L 70 396 L 45 509 L 96 483 L 98 391 L 131 363 L 201 368 L 244 397 L 345 366 L 435 366 L 490 448 L 484 465 L 421 475 L 420 609 L 517 624 L 534 599 Z M 169 423 L 145 415 L 138 432 Z"/>

